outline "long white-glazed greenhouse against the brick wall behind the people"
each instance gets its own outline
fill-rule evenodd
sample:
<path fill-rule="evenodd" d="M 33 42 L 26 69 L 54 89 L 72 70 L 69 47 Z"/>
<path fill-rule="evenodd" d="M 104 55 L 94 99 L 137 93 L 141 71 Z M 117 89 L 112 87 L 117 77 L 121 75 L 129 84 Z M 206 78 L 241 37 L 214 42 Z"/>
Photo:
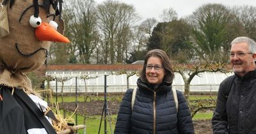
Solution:
<path fill-rule="evenodd" d="M 47 71 L 46 75 L 57 78 L 49 82 L 53 92 L 61 92 L 62 82 L 58 78 L 66 78 L 63 82 L 64 93 L 88 92 L 103 93 L 106 76 L 106 86 L 108 92 L 125 92 L 127 88 L 135 88 L 138 76 L 129 77 L 129 86 L 127 86 L 127 75 L 115 75 L 115 71 Z M 233 73 L 204 72 L 196 75 L 191 81 L 191 92 L 216 92 L 222 80 Z M 84 78 L 86 76 L 87 78 Z M 57 83 L 57 86 L 56 86 Z M 173 88 L 184 91 L 184 80 L 179 73 L 175 73 Z"/>

